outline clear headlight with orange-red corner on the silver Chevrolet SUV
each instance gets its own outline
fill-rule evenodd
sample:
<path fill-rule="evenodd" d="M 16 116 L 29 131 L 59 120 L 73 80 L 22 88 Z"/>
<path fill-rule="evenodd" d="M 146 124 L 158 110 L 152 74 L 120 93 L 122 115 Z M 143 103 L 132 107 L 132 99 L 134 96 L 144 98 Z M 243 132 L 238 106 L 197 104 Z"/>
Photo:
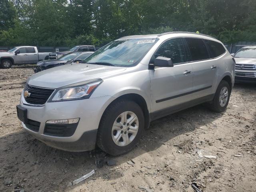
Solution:
<path fill-rule="evenodd" d="M 51 101 L 87 99 L 101 83 L 102 79 L 95 79 L 59 88 Z"/>

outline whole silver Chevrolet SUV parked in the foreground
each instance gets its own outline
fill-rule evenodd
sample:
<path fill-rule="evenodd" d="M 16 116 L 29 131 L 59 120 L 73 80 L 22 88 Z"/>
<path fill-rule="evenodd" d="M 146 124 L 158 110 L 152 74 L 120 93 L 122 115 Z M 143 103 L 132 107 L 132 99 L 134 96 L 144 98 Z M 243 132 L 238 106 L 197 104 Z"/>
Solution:
<path fill-rule="evenodd" d="M 235 64 L 215 38 L 189 32 L 127 36 L 79 64 L 32 75 L 17 106 L 38 140 L 67 151 L 96 144 L 119 155 L 152 120 L 208 102 L 226 109 Z"/>

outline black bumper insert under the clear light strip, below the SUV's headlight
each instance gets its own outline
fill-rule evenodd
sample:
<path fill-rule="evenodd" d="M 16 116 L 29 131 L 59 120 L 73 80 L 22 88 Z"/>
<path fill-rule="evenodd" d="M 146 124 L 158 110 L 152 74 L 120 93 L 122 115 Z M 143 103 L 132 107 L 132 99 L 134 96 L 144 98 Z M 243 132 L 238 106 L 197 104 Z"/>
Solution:
<path fill-rule="evenodd" d="M 78 123 L 72 124 L 46 124 L 44 134 L 57 137 L 70 137 L 76 131 Z"/>

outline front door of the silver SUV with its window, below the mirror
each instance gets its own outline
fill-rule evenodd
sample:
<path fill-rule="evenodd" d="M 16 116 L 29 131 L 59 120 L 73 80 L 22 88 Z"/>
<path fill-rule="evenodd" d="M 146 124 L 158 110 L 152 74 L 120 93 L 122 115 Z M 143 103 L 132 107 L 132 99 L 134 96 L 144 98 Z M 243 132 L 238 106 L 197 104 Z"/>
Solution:
<path fill-rule="evenodd" d="M 182 104 L 192 100 L 193 68 L 187 63 L 182 40 L 180 38 L 167 40 L 160 46 L 152 60 L 158 56 L 171 58 L 174 66 L 150 70 L 152 116 L 164 116 L 170 111 L 182 108 Z"/>

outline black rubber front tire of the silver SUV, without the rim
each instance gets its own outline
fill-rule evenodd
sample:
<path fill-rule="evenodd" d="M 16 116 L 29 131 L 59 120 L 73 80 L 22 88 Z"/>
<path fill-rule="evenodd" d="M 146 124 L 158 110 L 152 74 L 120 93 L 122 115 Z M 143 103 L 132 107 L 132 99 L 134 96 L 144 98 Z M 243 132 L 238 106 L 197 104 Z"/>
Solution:
<path fill-rule="evenodd" d="M 130 111 L 136 114 L 136 116 L 138 117 L 139 128 L 134 140 L 132 140 L 130 144 L 126 146 L 118 146 L 117 144 L 114 143 L 112 139 L 112 126 L 116 118 L 118 118 L 120 114 L 126 111 Z M 101 148 L 104 152 L 110 155 L 116 156 L 116 155 L 124 154 L 135 147 L 135 145 L 140 140 L 143 129 L 144 129 L 144 114 L 140 106 L 138 106 L 138 104 L 136 104 L 133 101 L 118 100 L 112 103 L 110 106 L 108 106 L 108 108 L 105 110 L 104 114 L 102 115 L 102 118 L 100 120 L 100 125 L 98 128 L 96 143 L 99 148 Z"/>

